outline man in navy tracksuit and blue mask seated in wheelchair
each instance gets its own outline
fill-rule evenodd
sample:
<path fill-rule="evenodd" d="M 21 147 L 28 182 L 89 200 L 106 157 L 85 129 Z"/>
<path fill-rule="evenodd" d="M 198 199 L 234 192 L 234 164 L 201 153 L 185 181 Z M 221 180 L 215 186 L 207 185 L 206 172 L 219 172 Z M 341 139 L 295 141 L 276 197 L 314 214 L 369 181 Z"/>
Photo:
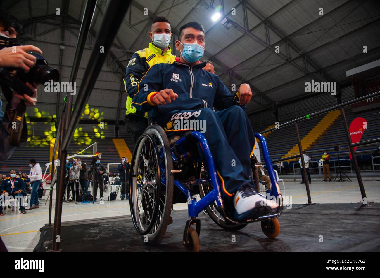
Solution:
<path fill-rule="evenodd" d="M 275 201 L 258 194 L 250 179 L 256 139 L 244 111 L 252 97 L 249 85 L 231 94 L 217 75 L 202 69 L 205 35 L 199 23 L 183 25 L 175 44 L 180 57 L 172 64 L 150 67 L 142 77 L 133 97 L 136 109 L 150 112 L 165 131 L 186 130 L 174 125 L 176 120 L 205 123 L 203 135 L 214 156 L 229 217 L 243 221 L 277 211 Z"/>

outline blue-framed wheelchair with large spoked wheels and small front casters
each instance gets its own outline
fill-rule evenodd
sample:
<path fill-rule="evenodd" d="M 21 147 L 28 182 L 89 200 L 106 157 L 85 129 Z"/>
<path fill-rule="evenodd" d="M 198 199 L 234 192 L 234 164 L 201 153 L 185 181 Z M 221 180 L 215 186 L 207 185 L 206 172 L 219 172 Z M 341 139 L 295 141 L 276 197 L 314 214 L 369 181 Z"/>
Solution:
<path fill-rule="evenodd" d="M 278 217 L 282 213 L 282 195 L 272 168 L 265 138 L 260 140 L 264 161 L 272 183 L 266 198 L 277 200 L 279 208 L 273 214 L 236 222 L 229 218 L 223 206 L 220 179 L 206 138 L 198 131 L 167 131 L 151 123 L 136 142 L 130 171 L 130 210 L 136 231 L 149 244 L 159 243 L 166 228 L 173 222 L 173 203 L 186 203 L 188 216 L 183 244 L 187 251 L 200 248 L 200 220 L 196 217 L 206 210 L 221 228 L 237 231 L 250 222 L 261 221 L 261 228 L 269 238 L 279 235 Z M 182 132 L 182 134 L 180 134 Z M 255 167 L 254 167 L 255 168 Z M 206 170 L 207 169 L 207 170 Z M 252 180 L 259 188 L 258 172 L 253 169 Z M 199 201 L 193 197 L 199 194 Z"/>

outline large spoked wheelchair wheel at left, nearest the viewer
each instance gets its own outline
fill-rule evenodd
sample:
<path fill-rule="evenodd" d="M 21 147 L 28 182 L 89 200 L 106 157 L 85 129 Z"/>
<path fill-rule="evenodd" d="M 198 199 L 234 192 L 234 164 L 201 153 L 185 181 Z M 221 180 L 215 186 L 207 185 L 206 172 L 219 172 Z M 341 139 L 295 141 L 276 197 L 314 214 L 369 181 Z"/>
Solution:
<path fill-rule="evenodd" d="M 161 127 L 150 125 L 145 130 L 136 144 L 132 162 L 133 224 L 148 243 L 158 243 L 169 224 L 173 203 L 173 161 L 168 137 Z"/>

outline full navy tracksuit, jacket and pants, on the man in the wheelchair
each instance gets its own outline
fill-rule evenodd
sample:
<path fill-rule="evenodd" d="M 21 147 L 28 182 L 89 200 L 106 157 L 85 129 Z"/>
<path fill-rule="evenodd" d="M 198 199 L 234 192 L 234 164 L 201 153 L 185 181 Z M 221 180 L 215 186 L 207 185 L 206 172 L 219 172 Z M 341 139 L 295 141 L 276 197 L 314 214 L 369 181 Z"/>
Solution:
<path fill-rule="evenodd" d="M 203 135 L 222 177 L 226 205 L 230 203 L 231 208 L 233 198 L 226 197 L 232 197 L 250 180 L 255 137 L 247 115 L 238 106 L 238 92 L 232 95 L 217 75 L 202 69 L 205 65 L 189 66 L 176 60 L 152 66 L 141 79 L 133 103 L 139 111 L 152 110 L 152 116 L 166 131 L 177 131 L 173 124 L 176 119 L 205 120 Z M 156 106 L 152 99 L 163 89 L 172 89 L 178 97 L 170 104 Z"/>

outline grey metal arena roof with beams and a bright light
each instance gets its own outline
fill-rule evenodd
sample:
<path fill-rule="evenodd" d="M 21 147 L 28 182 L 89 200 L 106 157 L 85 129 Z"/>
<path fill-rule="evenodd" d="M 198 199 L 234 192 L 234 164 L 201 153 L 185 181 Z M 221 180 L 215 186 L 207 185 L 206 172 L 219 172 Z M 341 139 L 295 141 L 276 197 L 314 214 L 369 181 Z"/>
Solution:
<path fill-rule="evenodd" d="M 109 1 L 97 2 L 77 86 Z M 3 0 L 2 8 L 22 21 L 23 44 L 40 47 L 49 64 L 60 70 L 61 81 L 68 81 L 84 4 L 83 0 Z M 211 20 L 215 11 L 223 14 L 217 21 Z M 380 59 L 378 0 L 134 0 L 89 101 L 90 107 L 104 112 L 105 119 L 123 119 L 125 67 L 135 51 L 149 44 L 154 16 L 170 20 L 173 49 L 181 25 L 190 21 L 203 25 L 203 59 L 214 62 L 227 87 L 250 84 L 249 115 L 273 110 L 275 103 L 312 97 L 315 93 L 305 92 L 305 82 L 312 79 L 345 84 L 346 70 Z M 176 50 L 174 54 L 179 56 Z M 40 110 L 59 115 L 63 94 L 42 88 L 38 94 Z"/>

